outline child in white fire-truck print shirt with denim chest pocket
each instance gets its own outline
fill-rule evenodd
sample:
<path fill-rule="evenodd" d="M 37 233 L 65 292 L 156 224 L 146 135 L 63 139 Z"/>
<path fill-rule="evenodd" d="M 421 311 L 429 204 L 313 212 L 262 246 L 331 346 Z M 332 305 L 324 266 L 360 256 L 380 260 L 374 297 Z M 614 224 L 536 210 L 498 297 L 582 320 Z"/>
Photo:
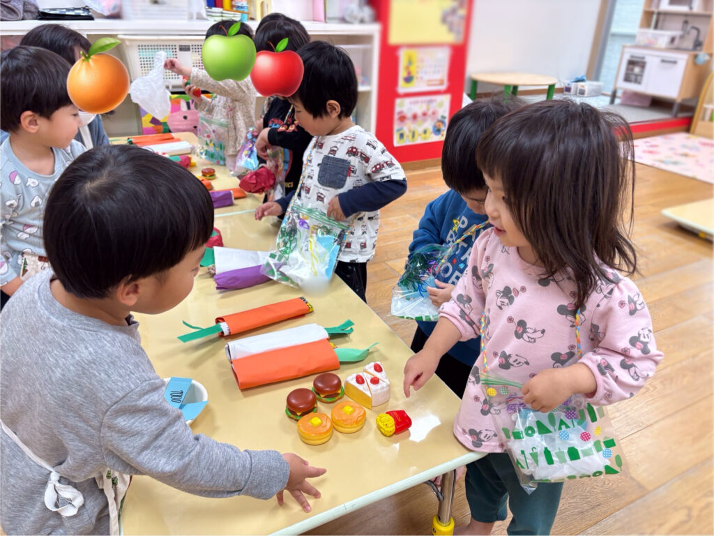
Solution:
<path fill-rule="evenodd" d="M 352 122 L 357 76 L 350 56 L 325 41 L 312 41 L 298 54 L 305 72 L 290 101 L 298 122 L 315 137 L 303 157 L 298 197 L 351 224 L 335 274 L 366 302 L 367 262 L 377 244 L 379 209 L 406 192 L 406 177 L 384 146 Z M 283 214 L 292 197 L 261 204 L 256 219 Z"/>

